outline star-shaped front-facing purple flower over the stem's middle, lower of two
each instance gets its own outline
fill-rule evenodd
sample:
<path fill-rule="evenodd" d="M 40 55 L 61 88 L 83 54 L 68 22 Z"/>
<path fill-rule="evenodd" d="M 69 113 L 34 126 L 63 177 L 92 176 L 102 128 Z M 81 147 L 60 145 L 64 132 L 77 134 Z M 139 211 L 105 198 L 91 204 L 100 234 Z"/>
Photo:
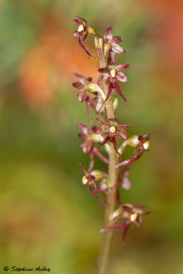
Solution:
<path fill-rule="evenodd" d="M 98 147 L 101 147 L 106 142 L 112 142 L 115 152 L 119 155 L 119 158 L 121 158 L 121 155 L 117 151 L 117 143 L 115 140 L 115 136 L 127 139 L 128 134 L 125 129 L 127 127 L 131 127 L 132 125 L 119 124 L 119 121 L 115 118 L 111 118 L 108 121 L 102 120 L 100 118 L 96 118 L 96 120 L 100 124 L 102 124 L 100 127 L 97 127 L 96 134 L 100 134 L 101 136 L 107 134 L 107 137 L 100 143 L 100 145 L 98 145 Z"/>

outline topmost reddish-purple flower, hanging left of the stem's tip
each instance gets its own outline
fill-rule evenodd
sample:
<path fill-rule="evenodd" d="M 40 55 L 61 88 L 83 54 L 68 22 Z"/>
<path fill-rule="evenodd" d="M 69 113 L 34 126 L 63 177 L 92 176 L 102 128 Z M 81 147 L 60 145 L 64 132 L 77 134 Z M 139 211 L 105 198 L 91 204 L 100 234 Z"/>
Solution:
<path fill-rule="evenodd" d="M 75 16 L 75 18 L 72 20 L 72 22 L 79 26 L 78 29 L 76 30 L 76 32 L 74 32 L 74 36 L 79 38 L 79 45 L 81 45 L 81 47 L 84 49 L 84 51 L 87 53 L 87 55 L 89 55 L 89 58 L 90 58 L 93 55 L 92 55 L 92 53 L 89 52 L 87 47 L 83 44 L 83 41 L 87 38 L 89 28 L 91 29 L 91 27 L 87 27 L 87 21 L 85 21 L 85 19 L 83 19 L 79 16 Z M 92 31 L 95 34 L 94 28 L 92 28 Z"/>

